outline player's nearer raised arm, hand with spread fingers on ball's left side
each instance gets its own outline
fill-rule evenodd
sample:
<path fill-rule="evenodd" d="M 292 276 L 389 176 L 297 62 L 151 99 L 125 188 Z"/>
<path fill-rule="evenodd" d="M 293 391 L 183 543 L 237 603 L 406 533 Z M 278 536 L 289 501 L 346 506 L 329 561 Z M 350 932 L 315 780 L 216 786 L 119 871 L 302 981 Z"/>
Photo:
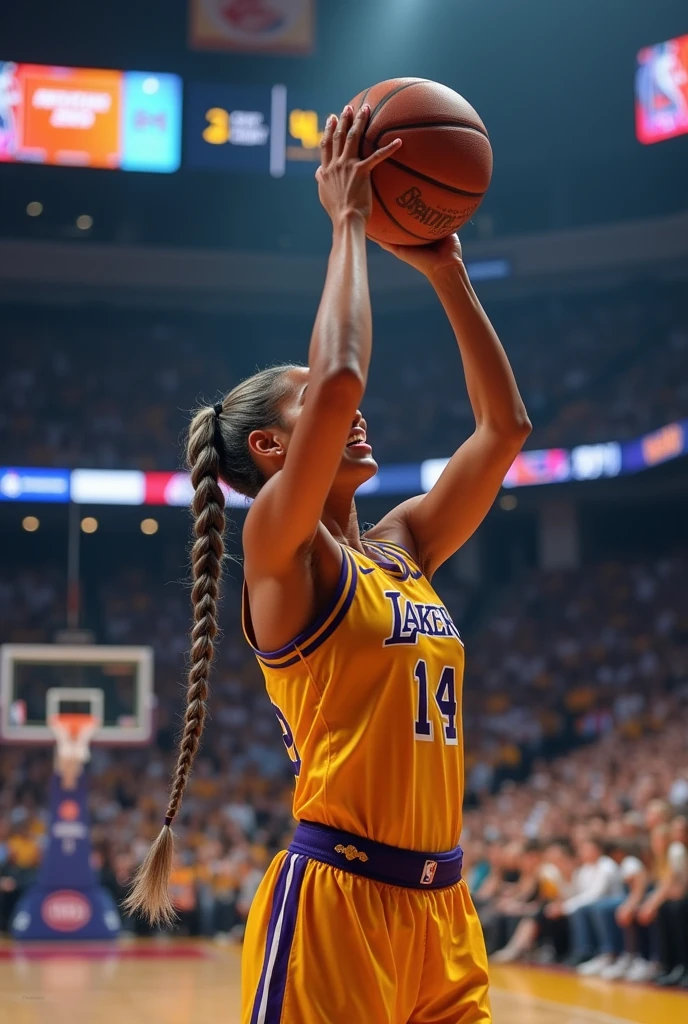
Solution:
<path fill-rule="evenodd" d="M 328 121 L 317 171 L 320 202 L 333 222 L 327 280 L 308 353 L 301 408 L 284 456 L 256 498 L 244 529 L 247 569 L 281 574 L 315 535 L 365 388 L 372 325 L 365 256 L 371 171 L 400 145 L 357 156 L 370 108 L 346 106 Z M 266 425 L 267 426 L 267 425 Z M 274 454 L 274 451 L 272 451 Z"/>

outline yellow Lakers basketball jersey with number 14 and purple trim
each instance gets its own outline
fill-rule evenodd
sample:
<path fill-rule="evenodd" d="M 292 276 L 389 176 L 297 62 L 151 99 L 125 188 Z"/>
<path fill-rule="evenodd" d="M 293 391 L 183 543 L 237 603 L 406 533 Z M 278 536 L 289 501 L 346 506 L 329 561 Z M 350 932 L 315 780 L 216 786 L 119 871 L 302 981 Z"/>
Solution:
<path fill-rule="evenodd" d="M 292 643 L 261 651 L 296 775 L 294 816 L 411 850 L 459 843 L 464 645 L 397 545 L 342 547 L 330 607 Z"/>

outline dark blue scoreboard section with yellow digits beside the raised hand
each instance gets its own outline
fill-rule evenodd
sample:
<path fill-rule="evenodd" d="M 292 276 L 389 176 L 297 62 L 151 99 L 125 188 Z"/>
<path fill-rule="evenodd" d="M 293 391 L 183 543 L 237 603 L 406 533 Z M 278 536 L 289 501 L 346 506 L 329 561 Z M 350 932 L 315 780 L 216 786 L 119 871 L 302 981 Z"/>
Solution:
<path fill-rule="evenodd" d="M 313 174 L 327 112 L 285 85 L 191 84 L 186 163 L 197 170 Z"/>

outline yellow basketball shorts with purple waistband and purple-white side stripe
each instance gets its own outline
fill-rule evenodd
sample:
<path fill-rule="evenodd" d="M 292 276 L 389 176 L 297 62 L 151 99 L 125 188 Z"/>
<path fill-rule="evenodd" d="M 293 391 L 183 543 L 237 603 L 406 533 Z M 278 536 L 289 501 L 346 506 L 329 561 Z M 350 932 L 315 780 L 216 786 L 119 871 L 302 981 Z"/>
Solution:
<path fill-rule="evenodd" d="M 341 852 L 326 862 L 293 844 L 268 868 L 247 923 L 242 1024 L 488 1024 L 482 929 L 466 883 L 441 885 L 433 858 L 447 855 L 414 852 L 399 872 L 380 844 L 308 827 Z M 406 882 L 379 881 L 382 868 Z"/>

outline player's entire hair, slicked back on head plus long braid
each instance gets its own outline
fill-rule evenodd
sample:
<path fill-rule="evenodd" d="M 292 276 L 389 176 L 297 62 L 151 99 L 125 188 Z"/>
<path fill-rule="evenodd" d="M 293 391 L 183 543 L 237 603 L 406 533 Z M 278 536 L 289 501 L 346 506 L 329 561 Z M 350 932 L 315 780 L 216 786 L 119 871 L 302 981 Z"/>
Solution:
<path fill-rule="evenodd" d="M 168 892 L 174 856 L 170 825 L 179 812 L 206 722 L 224 557 L 225 499 L 220 480 L 248 498 L 255 498 L 260 490 L 265 479 L 251 457 L 249 435 L 254 430 L 283 425 L 281 403 L 290 389 L 288 371 L 294 369 L 293 365 L 270 367 L 249 377 L 222 402 L 200 409 L 188 428 L 186 460 L 193 484 L 196 540 L 191 548 L 192 626 L 186 711 L 165 823 L 123 904 L 125 910 L 142 913 L 152 924 L 171 925 L 175 920 Z"/>

